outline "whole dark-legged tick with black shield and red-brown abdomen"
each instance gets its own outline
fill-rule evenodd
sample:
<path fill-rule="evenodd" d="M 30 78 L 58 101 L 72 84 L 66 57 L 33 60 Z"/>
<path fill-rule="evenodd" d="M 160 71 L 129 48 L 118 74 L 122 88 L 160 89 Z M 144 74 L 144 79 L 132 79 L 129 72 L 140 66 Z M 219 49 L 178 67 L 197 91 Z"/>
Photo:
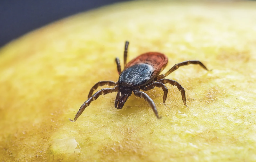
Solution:
<path fill-rule="evenodd" d="M 189 64 L 198 64 L 205 70 L 208 70 L 202 62 L 198 60 L 188 60 L 175 64 L 168 72 L 159 75 L 168 63 L 168 58 L 164 54 L 159 52 L 144 53 L 126 64 L 128 45 L 129 42 L 126 41 L 124 46 L 123 71 L 121 70 L 119 58 L 116 58 L 117 71 L 119 74 L 118 81 L 99 81 L 96 83 L 90 90 L 88 99 L 84 102 L 84 104 L 82 104 L 79 111 L 76 113 L 75 119 L 69 119 L 70 121 L 76 121 L 77 118 L 83 113 L 84 109 L 89 106 L 92 101 L 96 100 L 100 95 L 106 95 L 112 92 L 117 92 L 115 108 L 122 109 L 124 103 L 127 101 L 128 97 L 132 95 L 133 92 L 135 96 L 144 98 L 155 112 L 156 117 L 160 119 L 161 117 L 158 115 L 154 101 L 143 91 L 148 91 L 150 89 L 154 89 L 155 87 L 162 88 L 164 91 L 164 103 L 168 94 L 168 89 L 166 88 L 165 84 L 168 83 L 176 86 L 179 89 L 183 103 L 186 105 L 186 95 L 184 88 L 177 81 L 172 79 L 165 79 L 165 77 L 177 70 L 180 66 Z M 104 88 L 93 94 L 94 90 L 103 85 L 114 86 L 114 88 Z"/>

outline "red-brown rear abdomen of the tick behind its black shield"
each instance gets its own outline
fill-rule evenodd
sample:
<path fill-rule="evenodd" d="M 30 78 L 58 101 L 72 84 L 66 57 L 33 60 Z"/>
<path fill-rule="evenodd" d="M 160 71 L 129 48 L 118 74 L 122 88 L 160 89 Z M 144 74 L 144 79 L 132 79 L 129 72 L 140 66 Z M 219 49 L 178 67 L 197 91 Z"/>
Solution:
<path fill-rule="evenodd" d="M 155 78 L 157 75 L 161 73 L 161 71 L 165 68 L 168 63 L 168 58 L 159 52 L 148 52 L 144 53 L 134 59 L 132 59 L 124 69 L 127 69 L 135 64 L 148 64 L 153 66 L 152 78 Z"/>

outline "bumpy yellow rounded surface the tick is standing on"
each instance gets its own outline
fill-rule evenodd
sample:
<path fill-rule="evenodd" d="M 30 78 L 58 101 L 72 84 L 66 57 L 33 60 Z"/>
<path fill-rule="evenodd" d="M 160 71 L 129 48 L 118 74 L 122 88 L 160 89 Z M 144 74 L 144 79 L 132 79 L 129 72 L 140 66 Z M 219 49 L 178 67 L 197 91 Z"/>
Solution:
<path fill-rule="evenodd" d="M 1 161 L 256 161 L 256 2 L 115 4 L 31 32 L 0 50 Z M 123 63 L 148 51 L 169 64 L 201 60 L 124 108 L 100 96 L 74 122 L 89 89 L 117 81 Z M 123 64 L 122 64 L 123 67 Z"/>

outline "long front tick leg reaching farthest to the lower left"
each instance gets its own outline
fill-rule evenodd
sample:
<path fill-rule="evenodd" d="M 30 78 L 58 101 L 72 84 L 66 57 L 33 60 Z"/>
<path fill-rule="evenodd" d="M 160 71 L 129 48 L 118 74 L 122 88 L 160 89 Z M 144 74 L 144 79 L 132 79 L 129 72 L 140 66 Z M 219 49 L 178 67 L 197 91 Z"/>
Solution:
<path fill-rule="evenodd" d="M 96 100 L 100 95 L 106 95 L 108 93 L 112 93 L 117 91 L 117 88 L 104 88 L 99 90 L 98 92 L 94 93 L 90 98 L 88 98 L 88 100 L 86 100 L 84 102 L 84 104 L 82 104 L 82 106 L 80 107 L 80 109 L 78 110 L 78 112 L 76 113 L 76 117 L 74 120 L 69 119 L 70 121 L 76 121 L 77 118 L 83 113 L 84 109 L 89 106 L 91 104 L 92 101 Z"/>

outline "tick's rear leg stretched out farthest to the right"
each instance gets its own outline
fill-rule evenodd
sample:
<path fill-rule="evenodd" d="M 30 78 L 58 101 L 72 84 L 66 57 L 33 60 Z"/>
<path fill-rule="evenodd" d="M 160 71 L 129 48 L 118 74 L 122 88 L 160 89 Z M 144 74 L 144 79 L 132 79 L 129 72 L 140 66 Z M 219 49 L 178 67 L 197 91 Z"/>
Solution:
<path fill-rule="evenodd" d="M 188 61 L 184 61 L 184 62 L 180 62 L 178 64 L 175 64 L 174 66 L 172 66 L 172 68 L 166 72 L 165 74 L 162 75 L 158 75 L 157 76 L 157 80 L 159 79 L 163 79 L 164 77 L 166 77 L 167 75 L 169 75 L 170 73 L 174 72 L 175 70 L 177 70 L 180 66 L 185 66 L 185 65 L 189 65 L 189 64 L 199 64 L 201 67 L 203 67 L 205 70 L 208 70 L 204 64 L 201 61 L 198 60 L 188 60 Z"/>

